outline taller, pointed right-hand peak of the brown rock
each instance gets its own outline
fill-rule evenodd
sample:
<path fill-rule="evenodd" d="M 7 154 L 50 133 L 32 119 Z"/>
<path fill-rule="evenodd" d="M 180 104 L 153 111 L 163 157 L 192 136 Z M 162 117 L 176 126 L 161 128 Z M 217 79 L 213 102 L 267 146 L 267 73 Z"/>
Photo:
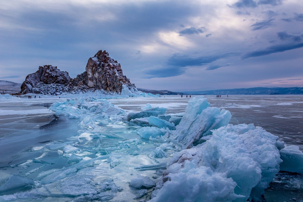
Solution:
<path fill-rule="evenodd" d="M 84 75 L 86 73 L 86 75 Z M 128 78 L 123 75 L 121 65 L 106 51 L 98 51 L 94 57 L 89 58 L 83 74 L 83 81 L 88 87 L 104 89 L 108 92 L 122 91 L 122 85 L 128 88 L 136 88 Z M 78 75 L 81 77 L 80 75 Z M 78 78 L 77 76 L 77 78 Z"/>

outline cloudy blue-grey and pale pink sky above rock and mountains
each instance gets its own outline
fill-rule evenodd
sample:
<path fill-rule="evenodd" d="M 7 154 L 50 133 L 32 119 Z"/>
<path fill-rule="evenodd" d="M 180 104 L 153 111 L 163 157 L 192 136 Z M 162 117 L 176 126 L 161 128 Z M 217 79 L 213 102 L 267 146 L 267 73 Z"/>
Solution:
<path fill-rule="evenodd" d="M 2 0 L 0 80 L 106 50 L 137 88 L 303 87 L 302 0 Z"/>

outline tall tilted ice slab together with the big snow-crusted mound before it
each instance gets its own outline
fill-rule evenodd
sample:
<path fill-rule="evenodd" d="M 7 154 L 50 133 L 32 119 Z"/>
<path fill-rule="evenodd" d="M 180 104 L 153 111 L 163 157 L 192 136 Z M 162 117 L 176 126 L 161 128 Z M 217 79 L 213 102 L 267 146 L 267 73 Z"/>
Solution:
<path fill-rule="evenodd" d="M 203 97 L 189 101 L 176 130 L 155 152 L 163 155 L 161 147 L 169 142 L 188 149 L 174 154 L 151 201 L 262 200 L 279 171 L 280 153 L 298 154 L 298 148 L 282 149 L 277 136 L 253 124 L 228 124 L 230 118 L 229 111 L 211 108 Z M 300 168 L 299 158 L 292 157 L 292 166 Z"/>

